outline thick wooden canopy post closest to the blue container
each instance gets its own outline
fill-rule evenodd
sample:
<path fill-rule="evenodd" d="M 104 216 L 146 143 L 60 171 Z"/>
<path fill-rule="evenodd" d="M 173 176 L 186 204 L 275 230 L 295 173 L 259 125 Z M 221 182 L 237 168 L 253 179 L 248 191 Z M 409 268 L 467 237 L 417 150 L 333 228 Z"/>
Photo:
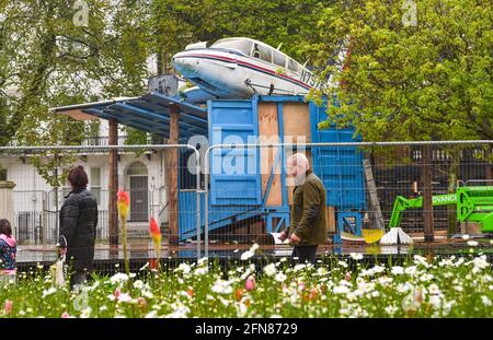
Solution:
<path fill-rule="evenodd" d="M 170 109 L 170 139 L 169 144 L 177 144 L 179 142 L 179 110 L 176 106 L 172 106 Z M 177 149 L 169 150 L 169 162 L 168 162 L 168 201 L 169 201 L 169 213 L 168 222 L 170 226 L 170 245 L 177 245 L 179 243 L 179 202 L 177 202 Z"/>

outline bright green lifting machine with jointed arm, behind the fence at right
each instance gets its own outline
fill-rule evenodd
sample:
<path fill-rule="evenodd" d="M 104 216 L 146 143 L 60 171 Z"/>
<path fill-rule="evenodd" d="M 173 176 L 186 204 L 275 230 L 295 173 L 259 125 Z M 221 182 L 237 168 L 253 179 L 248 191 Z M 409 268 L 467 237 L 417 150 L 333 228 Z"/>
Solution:
<path fill-rule="evenodd" d="M 433 207 L 456 204 L 457 223 L 477 222 L 480 225 L 481 233 L 493 233 L 493 186 L 474 185 L 479 181 L 488 183 L 490 180 L 470 180 L 466 183 L 466 186 L 459 186 L 455 194 L 434 195 Z M 404 198 L 398 196 L 390 216 L 390 232 L 383 235 L 380 244 L 412 243 L 411 237 L 400 227 L 402 214 L 405 210 L 422 207 L 423 197 Z"/>

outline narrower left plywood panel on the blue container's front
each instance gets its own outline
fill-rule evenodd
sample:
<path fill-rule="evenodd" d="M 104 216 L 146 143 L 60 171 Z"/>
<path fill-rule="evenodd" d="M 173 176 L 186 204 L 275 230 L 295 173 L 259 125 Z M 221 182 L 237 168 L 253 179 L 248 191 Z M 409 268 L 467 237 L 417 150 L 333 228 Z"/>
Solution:
<path fill-rule="evenodd" d="M 261 143 L 278 143 L 279 128 L 277 119 L 277 105 L 275 103 L 259 104 L 259 134 Z M 279 148 L 261 148 L 261 174 L 262 174 L 262 197 L 267 189 L 268 178 L 273 166 L 275 165 L 275 156 L 279 153 Z M 280 206 L 283 203 L 282 183 L 280 183 L 280 162 L 277 161 L 277 167 L 271 185 L 268 197 L 265 200 L 266 206 Z"/>

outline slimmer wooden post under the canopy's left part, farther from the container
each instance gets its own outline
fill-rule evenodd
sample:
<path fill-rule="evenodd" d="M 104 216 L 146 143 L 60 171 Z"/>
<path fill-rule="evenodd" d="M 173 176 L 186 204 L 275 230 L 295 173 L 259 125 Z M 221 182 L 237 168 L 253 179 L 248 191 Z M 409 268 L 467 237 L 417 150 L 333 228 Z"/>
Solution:
<path fill-rule="evenodd" d="M 110 119 L 108 145 L 118 144 L 118 124 Z M 118 246 L 118 212 L 116 211 L 116 192 L 118 189 L 118 151 L 110 150 L 108 207 L 110 247 Z"/>

